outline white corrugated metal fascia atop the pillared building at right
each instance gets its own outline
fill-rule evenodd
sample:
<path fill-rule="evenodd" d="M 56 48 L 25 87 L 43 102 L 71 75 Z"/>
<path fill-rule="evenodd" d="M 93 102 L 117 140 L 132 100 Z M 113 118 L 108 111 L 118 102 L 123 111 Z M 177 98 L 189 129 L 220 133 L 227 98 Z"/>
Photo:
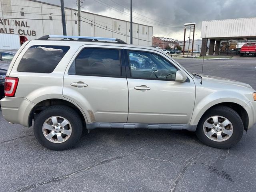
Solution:
<path fill-rule="evenodd" d="M 201 38 L 239 38 L 251 36 L 256 37 L 256 18 L 202 22 Z"/>

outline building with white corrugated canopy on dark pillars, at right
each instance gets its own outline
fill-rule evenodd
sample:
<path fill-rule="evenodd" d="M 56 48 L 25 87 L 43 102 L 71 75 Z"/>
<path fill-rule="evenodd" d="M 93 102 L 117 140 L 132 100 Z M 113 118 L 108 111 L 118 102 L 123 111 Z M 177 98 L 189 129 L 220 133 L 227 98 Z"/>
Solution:
<path fill-rule="evenodd" d="M 206 55 L 210 40 L 209 55 L 236 54 L 245 43 L 256 43 L 256 18 L 203 21 L 201 54 Z"/>

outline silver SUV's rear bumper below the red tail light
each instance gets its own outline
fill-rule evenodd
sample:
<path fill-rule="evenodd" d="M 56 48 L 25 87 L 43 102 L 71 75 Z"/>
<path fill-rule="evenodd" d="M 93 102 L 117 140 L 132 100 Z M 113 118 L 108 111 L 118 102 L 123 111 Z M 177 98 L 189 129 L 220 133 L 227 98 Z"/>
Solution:
<path fill-rule="evenodd" d="M 35 104 L 20 97 L 4 97 L 1 99 L 1 108 L 4 119 L 11 123 L 29 127 L 30 112 Z"/>

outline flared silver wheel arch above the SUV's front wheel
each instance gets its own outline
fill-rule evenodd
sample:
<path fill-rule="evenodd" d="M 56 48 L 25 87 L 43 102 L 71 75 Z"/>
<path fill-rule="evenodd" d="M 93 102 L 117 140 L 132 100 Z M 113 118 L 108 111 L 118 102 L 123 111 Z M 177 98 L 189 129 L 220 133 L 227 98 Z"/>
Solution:
<path fill-rule="evenodd" d="M 244 107 L 248 104 L 249 100 L 246 98 L 246 96 L 230 90 L 213 92 L 202 99 L 196 98 L 190 124 L 197 125 L 200 118 L 209 108 L 224 102 L 236 103 Z"/>

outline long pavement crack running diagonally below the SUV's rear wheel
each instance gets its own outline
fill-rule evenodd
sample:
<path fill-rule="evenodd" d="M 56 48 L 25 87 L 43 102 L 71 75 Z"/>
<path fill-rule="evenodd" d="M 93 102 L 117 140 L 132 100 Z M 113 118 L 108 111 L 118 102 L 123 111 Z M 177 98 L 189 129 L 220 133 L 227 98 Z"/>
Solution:
<path fill-rule="evenodd" d="M 52 178 L 50 180 L 47 180 L 47 181 L 44 181 L 44 182 L 40 182 L 40 183 L 33 184 L 33 185 L 30 185 L 30 186 L 25 186 L 23 188 L 20 188 L 20 189 L 16 190 L 15 192 L 24 192 L 24 191 L 27 191 L 27 190 L 30 190 L 30 189 L 37 188 L 38 186 L 41 186 L 41 185 L 45 185 L 45 184 L 49 184 L 49 183 L 53 183 L 53 182 L 58 182 L 58 181 L 64 180 L 64 179 L 69 178 L 69 177 L 71 177 L 71 176 L 73 176 L 75 174 L 78 174 L 80 172 L 86 172 L 86 171 L 88 171 L 88 170 L 90 170 L 90 169 L 92 169 L 94 167 L 97 167 L 97 166 L 100 166 L 100 165 L 104 165 L 104 164 L 108 164 L 108 163 L 110 163 L 112 161 L 119 160 L 119 159 L 122 159 L 124 157 L 130 156 L 130 154 L 132 154 L 132 153 L 134 153 L 134 152 L 144 148 L 145 146 L 147 146 L 147 144 L 144 145 L 144 146 L 141 146 L 141 147 L 139 147 L 139 148 L 137 148 L 135 150 L 132 150 L 132 151 L 130 151 L 130 152 L 124 154 L 124 155 L 120 155 L 120 156 L 116 156 L 116 157 L 113 157 L 113 158 L 110 158 L 110 159 L 107 159 L 107 160 L 103 160 L 103 161 L 98 162 L 98 163 L 96 163 L 94 165 L 91 165 L 89 167 L 80 169 L 80 170 L 75 171 L 75 172 L 71 172 L 71 173 L 65 174 L 65 175 L 60 176 L 60 177 L 54 177 L 54 178 Z"/>

